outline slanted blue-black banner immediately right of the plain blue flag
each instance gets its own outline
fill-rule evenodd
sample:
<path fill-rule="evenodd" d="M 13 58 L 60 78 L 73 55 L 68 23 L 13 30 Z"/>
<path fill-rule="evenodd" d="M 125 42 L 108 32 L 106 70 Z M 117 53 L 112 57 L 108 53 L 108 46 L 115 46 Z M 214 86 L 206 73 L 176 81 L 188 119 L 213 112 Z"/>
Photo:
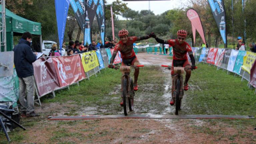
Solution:
<path fill-rule="evenodd" d="M 86 11 L 86 0 L 69 0 L 71 7 L 74 11 L 76 20 L 84 32 L 84 18 L 85 18 L 85 11 Z"/>

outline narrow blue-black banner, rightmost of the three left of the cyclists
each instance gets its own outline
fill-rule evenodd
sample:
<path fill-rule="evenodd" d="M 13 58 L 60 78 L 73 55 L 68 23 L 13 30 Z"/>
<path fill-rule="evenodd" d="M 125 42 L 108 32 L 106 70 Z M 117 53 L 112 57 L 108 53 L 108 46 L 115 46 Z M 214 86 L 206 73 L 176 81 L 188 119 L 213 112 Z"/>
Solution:
<path fill-rule="evenodd" d="M 99 0 L 99 4 L 97 6 L 96 17 L 98 20 L 98 25 L 100 29 L 100 36 L 102 44 L 105 44 L 105 4 L 104 0 Z"/>

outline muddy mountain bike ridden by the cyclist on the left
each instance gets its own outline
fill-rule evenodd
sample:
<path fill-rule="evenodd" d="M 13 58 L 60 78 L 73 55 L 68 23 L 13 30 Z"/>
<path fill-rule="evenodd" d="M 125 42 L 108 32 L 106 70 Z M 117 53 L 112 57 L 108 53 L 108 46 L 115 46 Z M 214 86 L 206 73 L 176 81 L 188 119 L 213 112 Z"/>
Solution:
<path fill-rule="evenodd" d="M 130 111 L 133 110 L 134 104 L 134 90 L 133 90 L 133 80 L 130 77 L 131 67 L 143 67 L 144 65 L 137 65 L 137 66 L 117 66 L 114 69 L 120 68 L 122 72 L 121 77 L 121 91 L 122 91 L 122 98 L 123 98 L 123 107 L 124 107 L 124 115 L 128 114 L 128 109 Z"/>

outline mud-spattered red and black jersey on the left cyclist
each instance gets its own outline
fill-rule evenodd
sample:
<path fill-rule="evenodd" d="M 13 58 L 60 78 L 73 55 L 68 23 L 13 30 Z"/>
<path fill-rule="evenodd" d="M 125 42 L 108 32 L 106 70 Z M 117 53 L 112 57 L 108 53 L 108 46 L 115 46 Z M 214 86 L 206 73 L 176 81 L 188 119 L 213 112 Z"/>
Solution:
<path fill-rule="evenodd" d="M 122 41 L 119 41 L 117 45 L 114 48 L 114 51 L 120 51 L 121 58 L 123 59 L 129 59 L 135 56 L 135 52 L 133 50 L 133 43 L 138 38 L 136 36 L 128 37 L 128 40 L 126 43 L 123 43 Z"/>

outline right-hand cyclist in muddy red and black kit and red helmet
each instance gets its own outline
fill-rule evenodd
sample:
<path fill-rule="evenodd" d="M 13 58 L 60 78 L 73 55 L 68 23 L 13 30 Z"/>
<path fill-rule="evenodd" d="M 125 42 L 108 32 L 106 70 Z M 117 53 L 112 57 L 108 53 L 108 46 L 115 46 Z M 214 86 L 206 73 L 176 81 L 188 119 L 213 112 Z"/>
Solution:
<path fill-rule="evenodd" d="M 169 44 L 173 47 L 173 61 L 172 61 L 172 67 L 182 66 L 185 68 L 186 71 L 186 78 L 184 81 L 184 90 L 188 90 L 188 80 L 191 76 L 191 70 L 195 69 L 195 58 L 193 56 L 192 49 L 190 45 L 185 41 L 187 37 L 187 32 L 185 30 L 179 30 L 177 31 L 177 39 L 170 39 L 170 40 L 162 40 L 158 38 L 154 33 L 150 34 L 151 37 L 155 38 L 158 43 L 162 44 Z M 191 59 L 192 66 L 190 66 L 190 63 L 187 58 L 187 53 L 189 54 L 189 57 Z M 173 95 L 173 85 L 174 85 L 174 71 L 171 71 L 172 75 L 172 95 Z M 174 99 L 170 101 L 171 105 L 174 105 Z"/>

